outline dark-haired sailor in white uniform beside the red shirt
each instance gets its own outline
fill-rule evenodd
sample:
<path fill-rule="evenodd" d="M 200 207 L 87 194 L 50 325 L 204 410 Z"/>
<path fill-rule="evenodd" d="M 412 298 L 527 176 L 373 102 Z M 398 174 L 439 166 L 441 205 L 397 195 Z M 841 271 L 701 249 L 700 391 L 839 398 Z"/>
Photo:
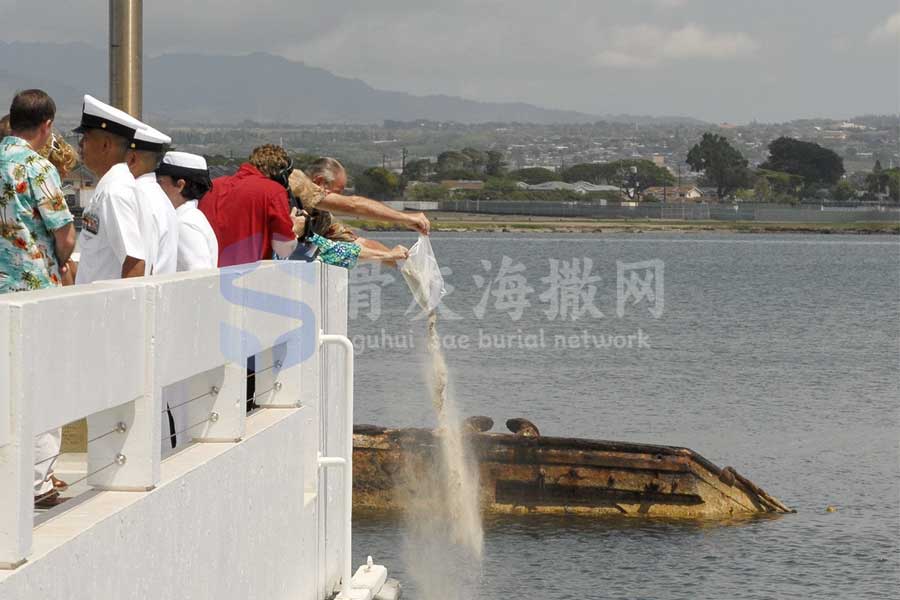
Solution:
<path fill-rule="evenodd" d="M 178 270 L 215 269 L 219 243 L 198 201 L 212 187 L 206 159 L 189 152 L 166 152 L 156 178 L 178 215 Z"/>

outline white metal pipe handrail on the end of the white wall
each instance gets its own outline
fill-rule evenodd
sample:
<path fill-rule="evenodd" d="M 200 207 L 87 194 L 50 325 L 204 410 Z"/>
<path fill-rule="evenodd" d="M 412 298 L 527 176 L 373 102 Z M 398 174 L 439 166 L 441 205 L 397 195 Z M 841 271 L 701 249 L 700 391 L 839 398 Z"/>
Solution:
<path fill-rule="evenodd" d="M 324 346 L 334 344 L 344 348 L 344 397 L 347 432 L 344 440 L 344 456 L 320 456 L 320 467 L 341 467 L 344 471 L 344 574 L 341 576 L 341 596 L 349 600 L 350 579 L 353 576 L 353 343 L 345 335 L 322 333 L 319 341 Z"/>

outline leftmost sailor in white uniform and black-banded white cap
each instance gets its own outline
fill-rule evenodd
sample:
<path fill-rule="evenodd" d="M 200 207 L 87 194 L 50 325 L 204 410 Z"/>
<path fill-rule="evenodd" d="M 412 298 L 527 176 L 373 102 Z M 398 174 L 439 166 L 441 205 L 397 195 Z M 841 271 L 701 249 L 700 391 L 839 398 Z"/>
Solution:
<path fill-rule="evenodd" d="M 126 159 L 142 123 L 131 115 L 84 97 L 78 144 L 84 165 L 100 180 L 84 211 L 78 237 L 81 257 L 75 283 L 141 277 L 148 258 L 142 232 L 150 215 L 137 200 L 134 176 Z"/>

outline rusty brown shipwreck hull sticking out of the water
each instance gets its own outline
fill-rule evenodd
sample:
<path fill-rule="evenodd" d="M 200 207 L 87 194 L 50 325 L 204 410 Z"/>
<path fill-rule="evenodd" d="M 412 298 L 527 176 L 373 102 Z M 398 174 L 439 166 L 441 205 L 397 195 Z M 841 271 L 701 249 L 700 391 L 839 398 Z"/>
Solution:
<path fill-rule="evenodd" d="M 793 512 L 731 467 L 688 448 L 468 433 L 487 513 L 727 518 Z M 434 471 L 429 429 L 354 427 L 353 506 L 401 510 Z"/>

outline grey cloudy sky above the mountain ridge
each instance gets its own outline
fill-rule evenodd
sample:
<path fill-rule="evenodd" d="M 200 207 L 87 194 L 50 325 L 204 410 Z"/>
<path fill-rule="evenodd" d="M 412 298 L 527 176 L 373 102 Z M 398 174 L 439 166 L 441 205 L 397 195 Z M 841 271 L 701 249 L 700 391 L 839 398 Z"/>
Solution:
<path fill-rule="evenodd" d="M 0 0 L 0 39 L 105 47 L 105 0 L 49 6 Z M 900 110 L 897 0 L 147 0 L 144 17 L 149 55 L 265 51 L 416 94 L 732 122 Z"/>

